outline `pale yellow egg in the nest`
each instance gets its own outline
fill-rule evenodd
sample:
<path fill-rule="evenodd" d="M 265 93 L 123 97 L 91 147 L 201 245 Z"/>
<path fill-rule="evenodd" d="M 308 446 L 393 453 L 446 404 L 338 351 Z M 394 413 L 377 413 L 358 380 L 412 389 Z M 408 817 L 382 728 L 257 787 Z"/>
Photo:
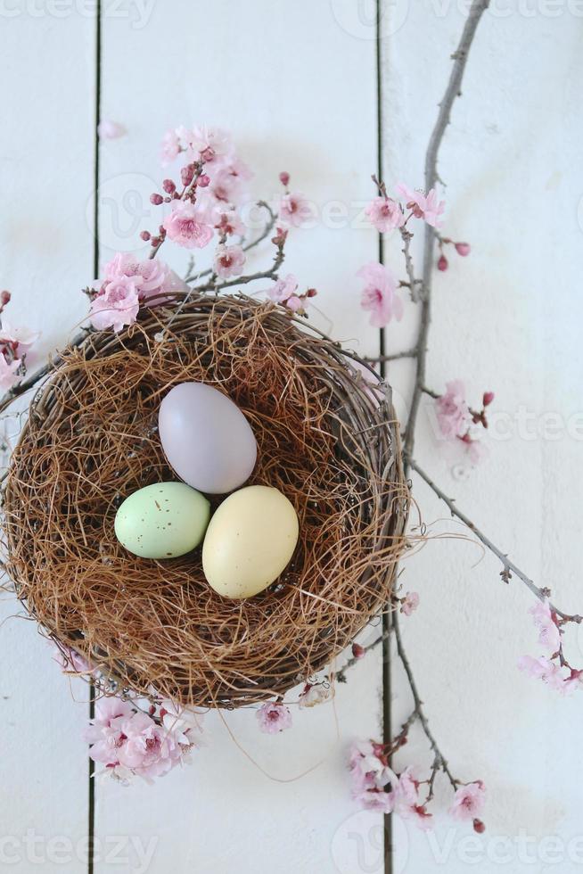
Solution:
<path fill-rule="evenodd" d="M 251 485 L 218 507 L 202 544 L 202 568 L 224 598 L 251 598 L 283 572 L 298 542 L 298 516 L 277 489 Z"/>

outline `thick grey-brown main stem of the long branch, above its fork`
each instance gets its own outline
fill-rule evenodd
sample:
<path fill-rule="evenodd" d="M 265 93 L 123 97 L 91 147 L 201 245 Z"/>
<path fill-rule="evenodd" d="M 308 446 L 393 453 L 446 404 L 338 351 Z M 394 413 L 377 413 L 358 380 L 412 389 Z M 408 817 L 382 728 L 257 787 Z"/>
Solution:
<path fill-rule="evenodd" d="M 468 60 L 470 48 L 472 46 L 473 37 L 476 34 L 476 29 L 480 23 L 482 14 L 488 9 L 489 0 L 473 0 L 470 12 L 468 13 L 465 22 L 462 37 L 457 45 L 456 52 L 452 54 L 454 65 L 449 76 L 448 87 L 441 103 L 439 103 L 438 118 L 431 133 L 429 146 L 425 156 L 425 191 L 431 191 L 439 179 L 437 163 L 439 156 L 439 146 L 443 140 L 443 135 L 448 127 L 451 111 L 456 100 L 461 94 L 462 79 L 464 78 L 465 65 Z M 440 180 L 439 180 L 440 181 Z M 431 278 L 433 273 L 433 260 L 435 252 L 435 230 L 431 225 L 425 223 L 424 241 L 423 241 L 423 276 L 420 290 L 421 298 L 421 317 L 419 322 L 419 333 L 415 348 L 416 356 L 416 371 L 415 371 L 415 386 L 411 399 L 411 408 L 407 419 L 405 430 L 405 441 L 403 445 L 405 456 L 405 468 L 407 469 L 408 459 L 413 453 L 415 447 L 415 424 L 419 413 L 419 405 L 423 393 L 423 385 L 425 384 L 425 374 L 427 367 L 427 340 L 429 336 L 429 327 L 431 324 Z"/>

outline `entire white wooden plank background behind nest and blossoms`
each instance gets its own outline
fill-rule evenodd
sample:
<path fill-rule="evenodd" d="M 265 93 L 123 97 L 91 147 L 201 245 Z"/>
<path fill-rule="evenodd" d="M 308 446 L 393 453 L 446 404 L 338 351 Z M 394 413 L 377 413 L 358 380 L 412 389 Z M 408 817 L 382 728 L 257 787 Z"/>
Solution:
<path fill-rule="evenodd" d="M 381 4 L 389 185 L 422 184 L 465 5 Z M 375 13 L 365 0 L 103 0 L 98 56 L 89 0 L 0 4 L 0 285 L 12 291 L 12 320 L 43 330 L 39 359 L 84 316 L 78 290 L 94 278 L 98 68 L 102 117 L 128 131 L 100 146 L 101 260 L 130 248 L 149 224 L 163 131 L 217 122 L 234 131 L 258 170 L 258 194 L 275 193 L 273 180 L 287 169 L 316 201 L 322 219 L 292 236 L 289 268 L 319 289 L 327 316 L 317 316 L 320 324 L 362 353 L 378 350 L 354 278 L 375 258 L 377 239 L 330 218 L 332 203 L 345 204 L 352 219 L 371 195 Z M 430 383 L 441 391 L 461 376 L 476 403 L 483 389 L 495 391 L 498 439 L 491 436 L 488 460 L 462 480 L 425 413 L 417 449 L 460 507 L 572 611 L 583 609 L 582 14 L 575 0 L 497 0 L 480 24 L 440 163 L 447 233 L 473 249 L 436 280 Z M 397 266 L 398 246 L 388 249 Z M 408 305 L 404 322 L 390 327 L 390 350 L 410 345 L 415 316 Z M 390 370 L 404 409 L 411 373 L 407 362 Z M 431 532 L 459 530 L 416 481 L 415 496 Z M 434 540 L 407 562 L 406 588 L 422 603 L 403 631 L 452 770 L 489 788 L 488 831 L 476 837 L 453 824 L 447 793 L 439 793 L 443 815 L 432 836 L 394 823 L 392 870 L 571 874 L 583 867 L 583 699 L 555 697 L 517 672 L 521 654 L 538 655 L 530 596 L 518 583 L 506 589 L 497 563 L 480 559 L 469 542 Z M 81 874 L 90 870 L 80 740 L 88 705 L 79 703 L 86 687 L 70 688 L 33 624 L 10 618 L 18 610 L 11 598 L 1 606 L 0 870 Z M 571 656 L 583 663 L 576 631 Z M 381 661 L 367 656 L 339 688 L 340 739 L 331 706 L 294 714 L 294 729 L 275 738 L 259 734 L 249 711 L 226 714 L 239 743 L 275 777 L 322 761 L 303 779 L 267 779 L 213 714 L 208 747 L 186 771 L 156 787 L 96 783 L 94 871 L 382 871 L 382 821 L 357 812 L 344 767 L 351 738 L 381 735 Z M 398 726 L 410 701 L 392 664 Z M 410 760 L 430 762 L 423 738 L 406 747 L 402 761 Z"/>

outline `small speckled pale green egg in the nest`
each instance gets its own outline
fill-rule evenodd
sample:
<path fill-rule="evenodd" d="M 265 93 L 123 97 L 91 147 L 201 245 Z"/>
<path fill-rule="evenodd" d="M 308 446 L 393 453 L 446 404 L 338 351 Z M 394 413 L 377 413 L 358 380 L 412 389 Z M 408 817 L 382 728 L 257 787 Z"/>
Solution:
<path fill-rule="evenodd" d="M 115 516 L 122 546 L 142 558 L 176 558 L 198 546 L 209 501 L 184 482 L 155 482 L 125 499 Z"/>

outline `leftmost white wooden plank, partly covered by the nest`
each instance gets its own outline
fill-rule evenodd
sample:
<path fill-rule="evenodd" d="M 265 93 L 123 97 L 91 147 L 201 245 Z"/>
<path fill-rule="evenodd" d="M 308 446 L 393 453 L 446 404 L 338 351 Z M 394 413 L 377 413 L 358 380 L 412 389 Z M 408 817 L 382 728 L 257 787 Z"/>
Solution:
<path fill-rule="evenodd" d="M 72 4 L 64 12 L 5 4 L 1 13 L 0 284 L 12 292 L 11 323 L 43 331 L 33 367 L 84 315 L 79 291 L 93 272 L 86 202 L 93 184 L 94 20 Z M 4 594 L 0 867 L 82 874 L 88 688 L 62 676 L 36 624 L 15 614 L 21 605 Z"/>

